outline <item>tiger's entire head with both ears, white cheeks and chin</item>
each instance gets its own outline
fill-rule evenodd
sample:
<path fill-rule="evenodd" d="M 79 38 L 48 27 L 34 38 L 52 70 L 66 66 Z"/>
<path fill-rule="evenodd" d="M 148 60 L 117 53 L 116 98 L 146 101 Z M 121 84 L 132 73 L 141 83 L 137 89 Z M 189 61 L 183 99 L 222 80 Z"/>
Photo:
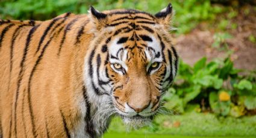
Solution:
<path fill-rule="evenodd" d="M 86 56 L 91 100 L 107 104 L 128 125 L 143 126 L 173 82 L 178 55 L 169 30 L 172 5 L 154 16 L 138 10 L 90 8 L 95 38 Z"/>

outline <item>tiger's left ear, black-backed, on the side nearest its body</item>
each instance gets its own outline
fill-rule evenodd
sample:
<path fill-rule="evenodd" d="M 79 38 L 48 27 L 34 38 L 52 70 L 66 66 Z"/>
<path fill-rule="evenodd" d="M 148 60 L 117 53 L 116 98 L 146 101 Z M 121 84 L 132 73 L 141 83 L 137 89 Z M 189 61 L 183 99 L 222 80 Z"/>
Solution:
<path fill-rule="evenodd" d="M 89 15 L 98 31 L 107 23 L 107 14 L 95 10 L 92 6 L 90 6 Z"/>

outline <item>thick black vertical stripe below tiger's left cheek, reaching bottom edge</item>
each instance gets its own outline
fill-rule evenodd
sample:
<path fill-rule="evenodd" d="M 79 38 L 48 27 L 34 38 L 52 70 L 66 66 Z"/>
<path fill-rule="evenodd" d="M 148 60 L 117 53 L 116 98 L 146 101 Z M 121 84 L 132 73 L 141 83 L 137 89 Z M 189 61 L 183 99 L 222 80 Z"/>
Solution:
<path fill-rule="evenodd" d="M 86 127 L 85 131 L 89 134 L 90 137 L 95 137 L 95 131 L 94 131 L 94 126 L 93 126 L 93 121 L 90 115 L 90 109 L 91 109 L 91 104 L 88 100 L 87 97 L 87 92 L 86 92 L 86 87 L 83 86 L 83 93 L 84 93 L 84 101 L 86 101 L 86 116 L 84 116 L 84 121 L 86 122 Z"/>

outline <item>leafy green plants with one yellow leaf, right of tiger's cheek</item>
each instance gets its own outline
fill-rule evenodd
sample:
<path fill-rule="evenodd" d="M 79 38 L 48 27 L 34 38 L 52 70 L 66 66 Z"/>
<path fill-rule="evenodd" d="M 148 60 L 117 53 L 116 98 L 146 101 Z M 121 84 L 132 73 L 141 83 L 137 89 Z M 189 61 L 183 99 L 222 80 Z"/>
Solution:
<path fill-rule="evenodd" d="M 240 76 L 230 58 L 202 58 L 193 67 L 180 62 L 180 72 L 164 100 L 167 108 L 184 113 L 188 104 L 200 103 L 204 112 L 239 117 L 256 109 L 255 73 Z M 210 110 L 207 110 L 209 109 Z"/>

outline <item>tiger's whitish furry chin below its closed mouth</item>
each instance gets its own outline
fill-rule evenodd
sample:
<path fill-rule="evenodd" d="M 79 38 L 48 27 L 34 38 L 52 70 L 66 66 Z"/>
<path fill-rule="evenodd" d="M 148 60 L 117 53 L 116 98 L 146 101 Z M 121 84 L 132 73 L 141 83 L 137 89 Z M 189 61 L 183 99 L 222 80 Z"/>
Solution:
<path fill-rule="evenodd" d="M 122 119 L 128 129 L 139 129 L 150 125 L 152 122 L 152 116 L 122 116 Z"/>

